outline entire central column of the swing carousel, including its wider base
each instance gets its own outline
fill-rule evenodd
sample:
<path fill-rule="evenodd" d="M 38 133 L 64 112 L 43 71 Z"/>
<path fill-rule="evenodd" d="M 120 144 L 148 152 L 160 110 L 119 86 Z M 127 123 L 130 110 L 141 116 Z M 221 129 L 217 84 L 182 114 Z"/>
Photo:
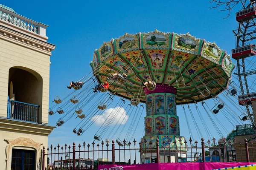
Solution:
<path fill-rule="evenodd" d="M 177 89 L 173 86 L 157 84 L 153 91 L 145 87 L 144 93 L 146 95 L 146 116 L 145 137 L 141 141 L 143 143 L 141 146 L 143 147 L 142 162 L 155 161 L 155 157 L 149 156 L 145 151 L 156 148 L 156 139 L 159 139 L 159 147 L 162 150 L 160 162 L 177 162 L 178 158 L 186 158 L 185 139 L 180 136 L 179 117 L 176 112 Z M 171 154 L 169 150 L 172 150 Z"/>

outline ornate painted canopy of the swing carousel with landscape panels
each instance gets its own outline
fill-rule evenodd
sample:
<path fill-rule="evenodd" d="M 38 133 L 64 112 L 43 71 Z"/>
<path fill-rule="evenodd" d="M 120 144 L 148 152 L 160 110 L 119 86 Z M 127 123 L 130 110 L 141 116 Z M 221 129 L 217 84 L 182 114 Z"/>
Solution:
<path fill-rule="evenodd" d="M 99 83 L 116 72 L 128 75 L 126 82 L 113 82 L 108 89 L 117 96 L 139 96 L 145 102 L 141 83 L 153 80 L 177 88 L 177 105 L 217 96 L 228 87 L 235 67 L 215 42 L 157 30 L 104 42 L 90 65 Z"/>

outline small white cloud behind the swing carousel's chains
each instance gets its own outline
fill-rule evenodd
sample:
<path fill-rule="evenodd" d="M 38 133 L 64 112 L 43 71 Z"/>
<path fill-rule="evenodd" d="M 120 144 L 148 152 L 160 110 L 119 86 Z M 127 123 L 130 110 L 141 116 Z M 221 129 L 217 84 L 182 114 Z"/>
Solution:
<path fill-rule="evenodd" d="M 96 119 L 95 119 L 96 118 Z M 126 115 L 126 111 L 124 108 L 116 107 L 116 108 L 109 108 L 102 113 L 102 115 L 93 116 L 93 120 L 95 119 L 96 125 L 102 125 L 105 121 L 111 121 L 110 125 L 115 125 L 116 122 L 117 125 L 125 124 L 128 121 L 129 116 Z M 105 122 L 104 125 L 107 125 L 107 122 Z"/>

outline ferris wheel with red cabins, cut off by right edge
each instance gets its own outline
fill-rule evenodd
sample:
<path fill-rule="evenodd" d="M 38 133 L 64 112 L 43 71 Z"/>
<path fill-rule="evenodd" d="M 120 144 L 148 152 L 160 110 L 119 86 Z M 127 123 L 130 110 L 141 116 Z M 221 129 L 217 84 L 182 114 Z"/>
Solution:
<path fill-rule="evenodd" d="M 232 50 L 232 57 L 236 59 L 237 72 L 234 73 L 239 81 L 241 94 L 239 105 L 244 105 L 246 112 L 242 120 L 250 120 L 256 127 L 256 2 L 242 1 L 243 8 L 236 12 L 238 29 L 233 30 L 236 37 L 236 48 Z M 255 105 L 255 106 L 254 106 Z"/>

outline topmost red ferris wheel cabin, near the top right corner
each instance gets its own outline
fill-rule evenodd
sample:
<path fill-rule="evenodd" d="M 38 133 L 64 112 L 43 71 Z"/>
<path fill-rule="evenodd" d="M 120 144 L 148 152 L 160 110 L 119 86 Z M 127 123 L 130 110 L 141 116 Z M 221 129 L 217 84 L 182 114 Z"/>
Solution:
<path fill-rule="evenodd" d="M 247 8 L 243 11 L 239 11 L 236 13 L 236 20 L 238 22 L 244 22 L 251 20 L 256 17 L 256 7 Z"/>

